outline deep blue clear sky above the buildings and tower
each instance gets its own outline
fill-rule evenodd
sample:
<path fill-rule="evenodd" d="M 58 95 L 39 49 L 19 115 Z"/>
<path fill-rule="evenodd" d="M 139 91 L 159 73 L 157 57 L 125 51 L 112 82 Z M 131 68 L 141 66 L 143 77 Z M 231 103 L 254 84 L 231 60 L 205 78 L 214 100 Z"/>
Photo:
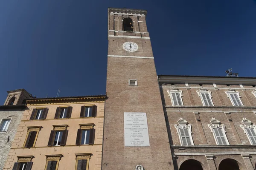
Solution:
<path fill-rule="evenodd" d="M 105 94 L 108 7 L 148 10 L 157 74 L 256 77 L 256 0 L 1 0 L 0 105 Z"/>

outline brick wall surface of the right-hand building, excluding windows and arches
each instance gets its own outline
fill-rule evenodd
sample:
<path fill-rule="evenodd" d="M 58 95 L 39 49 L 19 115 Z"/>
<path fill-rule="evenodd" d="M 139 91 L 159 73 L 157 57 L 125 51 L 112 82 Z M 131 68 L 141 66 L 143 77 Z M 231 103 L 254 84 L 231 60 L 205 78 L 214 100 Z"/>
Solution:
<path fill-rule="evenodd" d="M 191 78 L 192 79 L 192 78 Z M 238 80 L 239 82 L 239 80 Z M 256 148 L 247 139 L 244 130 L 240 127 L 243 118 L 247 118 L 256 124 L 256 98 L 252 91 L 256 90 L 252 85 L 238 84 L 202 84 L 185 82 L 160 82 L 160 91 L 163 107 L 166 113 L 169 140 L 172 145 L 173 155 L 176 156 L 176 167 L 189 159 L 198 160 L 204 170 L 217 170 L 222 160 L 231 158 L 239 164 L 240 170 L 254 170 L 256 163 Z M 172 88 L 182 91 L 184 106 L 172 106 L 171 98 L 167 92 Z M 211 91 L 214 106 L 203 106 L 197 90 L 205 88 Z M 225 91 L 230 88 L 239 91 L 244 107 L 232 105 Z M 195 146 L 181 146 L 179 134 L 175 128 L 180 118 L 192 125 L 192 138 Z M 209 128 L 211 119 L 215 117 L 225 125 L 229 146 L 217 145 Z M 247 154 L 247 156 L 244 156 Z"/>

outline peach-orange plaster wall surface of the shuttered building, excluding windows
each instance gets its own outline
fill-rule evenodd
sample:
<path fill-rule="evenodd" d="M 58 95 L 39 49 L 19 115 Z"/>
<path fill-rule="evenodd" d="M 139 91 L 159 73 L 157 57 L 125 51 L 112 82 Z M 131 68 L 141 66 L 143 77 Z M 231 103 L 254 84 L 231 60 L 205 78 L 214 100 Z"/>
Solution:
<path fill-rule="evenodd" d="M 80 111 L 82 105 L 97 105 L 96 117 L 80 118 Z M 54 119 L 56 108 L 59 106 L 73 107 L 71 118 L 69 119 Z M 29 120 L 32 110 L 38 107 L 49 108 L 47 118 L 45 120 Z M 8 160 L 6 161 L 4 170 L 12 169 L 14 163 L 17 161 L 17 156 L 34 156 L 32 159 L 32 170 L 44 170 L 46 166 L 46 155 L 62 154 L 63 157 L 59 162 L 59 170 L 75 169 L 76 156 L 75 153 L 91 153 L 92 156 L 89 161 L 90 170 L 100 170 L 102 159 L 102 136 L 103 136 L 103 120 L 104 120 L 104 101 L 98 102 L 63 102 L 28 105 L 28 109 L 23 112 L 21 123 L 18 127 L 15 140 L 13 141 Z M 90 145 L 76 145 L 77 130 L 79 124 L 95 124 L 95 140 L 94 144 Z M 48 147 L 49 135 L 53 130 L 52 125 L 68 125 L 67 130 L 67 143 L 65 146 L 52 146 Z M 41 131 L 38 133 L 38 138 L 35 147 L 23 147 L 27 127 L 29 126 L 42 126 Z M 68 162 L 68 163 L 67 163 Z"/>

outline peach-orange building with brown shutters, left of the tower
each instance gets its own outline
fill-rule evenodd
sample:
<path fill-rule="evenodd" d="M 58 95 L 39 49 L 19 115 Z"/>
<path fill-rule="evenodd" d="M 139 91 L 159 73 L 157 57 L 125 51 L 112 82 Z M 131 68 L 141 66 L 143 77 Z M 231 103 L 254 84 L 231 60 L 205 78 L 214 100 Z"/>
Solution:
<path fill-rule="evenodd" d="M 105 95 L 28 99 L 3 170 L 100 170 Z"/>

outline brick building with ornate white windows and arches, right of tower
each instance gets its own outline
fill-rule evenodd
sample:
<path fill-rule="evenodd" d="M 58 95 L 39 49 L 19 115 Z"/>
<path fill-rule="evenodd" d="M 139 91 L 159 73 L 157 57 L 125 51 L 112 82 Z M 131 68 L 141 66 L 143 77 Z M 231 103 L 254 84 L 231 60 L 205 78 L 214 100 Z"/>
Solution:
<path fill-rule="evenodd" d="M 256 78 L 158 80 L 175 169 L 255 170 Z"/>

